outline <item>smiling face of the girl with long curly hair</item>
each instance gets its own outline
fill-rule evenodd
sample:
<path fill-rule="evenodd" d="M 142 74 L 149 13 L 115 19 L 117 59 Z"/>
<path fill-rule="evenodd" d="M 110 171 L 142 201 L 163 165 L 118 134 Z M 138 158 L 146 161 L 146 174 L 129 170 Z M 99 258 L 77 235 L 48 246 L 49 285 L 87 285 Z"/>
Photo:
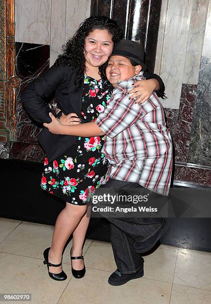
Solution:
<path fill-rule="evenodd" d="M 107 30 L 95 29 L 90 32 L 85 38 L 85 64 L 88 70 L 103 65 L 111 55 L 113 47 L 112 34 Z"/>

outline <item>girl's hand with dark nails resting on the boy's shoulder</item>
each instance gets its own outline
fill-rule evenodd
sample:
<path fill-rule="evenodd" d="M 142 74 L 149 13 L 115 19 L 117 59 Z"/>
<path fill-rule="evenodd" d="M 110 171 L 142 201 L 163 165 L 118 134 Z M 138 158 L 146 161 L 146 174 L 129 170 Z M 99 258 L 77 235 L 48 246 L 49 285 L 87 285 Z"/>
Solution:
<path fill-rule="evenodd" d="M 131 99 L 139 96 L 136 103 L 143 103 L 151 96 L 152 92 L 157 89 L 159 89 L 159 82 L 156 79 L 142 79 L 135 81 L 134 88 L 129 91 L 129 94 L 133 93 L 130 95 Z"/>

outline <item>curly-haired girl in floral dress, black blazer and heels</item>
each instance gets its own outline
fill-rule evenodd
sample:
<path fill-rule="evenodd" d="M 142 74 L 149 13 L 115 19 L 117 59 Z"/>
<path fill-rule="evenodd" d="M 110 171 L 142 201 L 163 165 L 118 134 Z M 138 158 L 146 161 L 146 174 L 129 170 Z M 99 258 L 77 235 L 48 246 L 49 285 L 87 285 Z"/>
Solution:
<path fill-rule="evenodd" d="M 108 17 L 91 16 L 81 23 L 55 65 L 26 87 L 22 102 L 29 115 L 40 124 L 50 123 L 52 110 L 45 101 L 55 92 L 62 124 L 94 121 L 110 100 L 113 87 L 105 79 L 103 65 L 120 39 L 121 29 Z M 142 95 L 144 99 L 153 90 L 164 90 L 159 76 L 144 76 L 148 80 L 136 82 L 133 97 Z M 82 278 L 82 246 L 89 224 L 86 203 L 100 186 L 108 167 L 101 153 L 104 137 L 86 138 L 84 142 L 84 138 L 53 135 L 44 128 L 39 141 L 47 153 L 41 187 L 66 201 L 55 224 L 51 247 L 44 251 L 44 263 L 52 279 L 67 279 L 62 270 L 62 255 L 72 233 L 72 274 Z"/>

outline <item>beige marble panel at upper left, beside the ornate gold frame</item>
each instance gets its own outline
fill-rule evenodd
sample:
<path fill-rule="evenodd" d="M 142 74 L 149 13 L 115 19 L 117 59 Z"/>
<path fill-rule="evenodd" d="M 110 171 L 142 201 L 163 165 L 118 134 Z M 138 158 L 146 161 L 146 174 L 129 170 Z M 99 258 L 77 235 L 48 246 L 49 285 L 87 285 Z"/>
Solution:
<path fill-rule="evenodd" d="M 15 0 L 15 41 L 50 44 L 51 0 Z"/>

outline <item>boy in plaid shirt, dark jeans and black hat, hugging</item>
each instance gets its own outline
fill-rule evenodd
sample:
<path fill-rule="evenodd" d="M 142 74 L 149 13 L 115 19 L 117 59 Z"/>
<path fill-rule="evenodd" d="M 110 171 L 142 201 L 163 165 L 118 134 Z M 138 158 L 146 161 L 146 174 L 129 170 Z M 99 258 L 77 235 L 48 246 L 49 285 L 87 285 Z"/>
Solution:
<path fill-rule="evenodd" d="M 172 141 L 163 107 L 154 93 L 140 105 L 128 95 L 136 79 L 144 79 L 143 54 L 143 48 L 135 41 L 121 40 L 115 46 L 106 68 L 106 76 L 115 89 L 95 122 L 65 126 L 51 114 L 52 123 L 44 126 L 54 134 L 105 134 L 102 153 L 109 159 L 110 167 L 102 184 L 110 189 L 144 187 L 166 196 L 172 170 Z M 162 218 L 107 219 L 118 267 L 108 282 L 118 286 L 143 276 L 140 253 L 153 247 L 167 224 Z"/>

